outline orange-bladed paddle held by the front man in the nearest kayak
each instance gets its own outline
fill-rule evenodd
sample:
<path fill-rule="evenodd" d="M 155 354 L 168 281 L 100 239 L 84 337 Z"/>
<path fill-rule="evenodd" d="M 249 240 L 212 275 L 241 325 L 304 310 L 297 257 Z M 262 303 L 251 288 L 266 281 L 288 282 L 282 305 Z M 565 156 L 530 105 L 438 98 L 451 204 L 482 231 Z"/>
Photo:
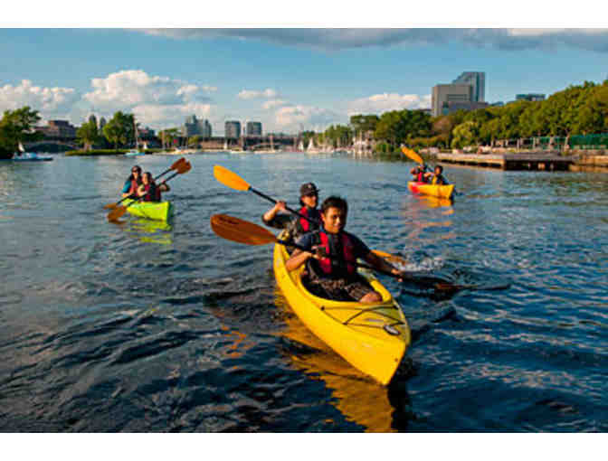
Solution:
<path fill-rule="evenodd" d="M 239 218 L 234 218 L 233 216 L 228 216 L 226 214 L 214 214 L 211 217 L 211 229 L 213 229 L 214 232 L 223 239 L 233 240 L 238 243 L 244 243 L 245 245 L 267 245 L 269 243 L 279 243 L 280 245 L 294 247 L 301 249 L 302 251 L 309 251 L 308 249 L 304 249 L 292 242 L 279 240 L 271 231 L 266 230 L 257 224 L 253 224 L 249 221 L 243 221 Z M 366 264 L 356 263 L 356 267 L 375 270 L 376 272 L 380 272 L 381 274 L 385 274 L 392 278 L 404 278 L 403 275 L 397 276 L 391 272 L 373 268 Z M 452 284 L 451 282 L 442 280 L 442 278 L 409 276 L 407 279 L 412 280 L 417 284 L 433 287 L 438 290 L 456 291 L 466 288 L 466 286 L 460 287 Z"/>

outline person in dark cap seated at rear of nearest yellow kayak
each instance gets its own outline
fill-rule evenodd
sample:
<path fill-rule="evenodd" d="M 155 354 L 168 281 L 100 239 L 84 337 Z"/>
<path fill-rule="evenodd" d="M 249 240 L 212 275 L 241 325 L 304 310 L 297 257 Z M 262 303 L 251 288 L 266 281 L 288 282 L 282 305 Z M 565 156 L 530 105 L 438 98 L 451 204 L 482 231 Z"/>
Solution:
<path fill-rule="evenodd" d="M 314 183 L 305 183 L 299 188 L 299 214 L 306 216 L 294 216 L 288 214 L 285 202 L 277 202 L 268 212 L 265 212 L 261 221 L 269 227 L 275 229 L 287 229 L 289 237 L 285 240 L 296 240 L 299 236 L 318 230 L 321 222 L 321 215 L 318 212 L 318 189 Z"/>

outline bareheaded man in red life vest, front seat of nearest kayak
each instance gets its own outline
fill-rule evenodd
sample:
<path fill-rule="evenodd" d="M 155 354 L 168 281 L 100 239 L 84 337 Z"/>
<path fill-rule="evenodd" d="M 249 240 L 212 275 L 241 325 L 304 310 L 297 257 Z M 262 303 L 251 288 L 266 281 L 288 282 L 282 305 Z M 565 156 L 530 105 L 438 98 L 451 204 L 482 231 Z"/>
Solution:
<path fill-rule="evenodd" d="M 372 267 L 396 276 L 404 274 L 385 259 L 376 256 L 355 235 L 344 230 L 347 214 L 346 200 L 336 196 L 328 197 L 321 205 L 321 227 L 296 240 L 301 249 L 293 251 L 285 263 L 285 268 L 291 271 L 306 263 L 307 288 L 317 296 L 342 301 L 379 303 L 382 301 L 380 293 L 357 274 L 356 259 L 364 259 Z"/>

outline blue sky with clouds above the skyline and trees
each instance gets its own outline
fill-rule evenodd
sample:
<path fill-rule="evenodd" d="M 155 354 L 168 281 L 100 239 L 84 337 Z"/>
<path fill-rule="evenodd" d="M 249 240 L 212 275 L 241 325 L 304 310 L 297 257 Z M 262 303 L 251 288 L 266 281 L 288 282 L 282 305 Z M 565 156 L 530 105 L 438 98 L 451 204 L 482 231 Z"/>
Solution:
<path fill-rule="evenodd" d="M 215 135 L 226 119 L 295 133 L 430 108 L 432 86 L 462 71 L 486 72 L 489 102 L 549 96 L 607 79 L 607 56 L 603 29 L 3 28 L 0 110 L 27 104 L 76 125 L 123 110 L 157 129 L 195 114 Z"/>

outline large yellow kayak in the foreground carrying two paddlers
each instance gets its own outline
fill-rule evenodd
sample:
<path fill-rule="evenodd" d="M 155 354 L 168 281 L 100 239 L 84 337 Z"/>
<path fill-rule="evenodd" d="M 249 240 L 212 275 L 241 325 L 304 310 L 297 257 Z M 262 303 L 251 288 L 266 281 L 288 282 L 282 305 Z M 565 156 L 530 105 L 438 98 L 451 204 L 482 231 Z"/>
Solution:
<path fill-rule="evenodd" d="M 411 342 L 401 306 L 369 271 L 360 270 L 382 295 L 379 304 L 333 301 L 315 296 L 302 284 L 304 265 L 289 272 L 285 247 L 274 247 L 274 276 L 301 322 L 360 372 L 388 384 Z"/>

